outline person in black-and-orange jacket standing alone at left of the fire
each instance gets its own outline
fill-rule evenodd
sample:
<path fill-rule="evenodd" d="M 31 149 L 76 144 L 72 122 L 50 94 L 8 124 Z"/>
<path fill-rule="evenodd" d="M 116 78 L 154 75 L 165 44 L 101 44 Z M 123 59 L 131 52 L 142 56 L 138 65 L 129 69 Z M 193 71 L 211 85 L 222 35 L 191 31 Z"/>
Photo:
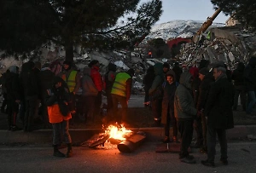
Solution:
<path fill-rule="evenodd" d="M 64 81 L 60 77 L 53 79 L 53 86 L 47 89 L 48 97 L 46 98 L 46 105 L 49 114 L 49 123 L 53 127 L 53 147 L 55 157 L 65 157 L 64 153 L 58 150 L 61 145 L 61 136 L 64 137 L 67 143 L 66 157 L 72 156 L 72 140 L 69 135 L 69 119 L 72 118 L 68 111 L 67 102 L 70 101 L 68 89 L 64 87 Z"/>

